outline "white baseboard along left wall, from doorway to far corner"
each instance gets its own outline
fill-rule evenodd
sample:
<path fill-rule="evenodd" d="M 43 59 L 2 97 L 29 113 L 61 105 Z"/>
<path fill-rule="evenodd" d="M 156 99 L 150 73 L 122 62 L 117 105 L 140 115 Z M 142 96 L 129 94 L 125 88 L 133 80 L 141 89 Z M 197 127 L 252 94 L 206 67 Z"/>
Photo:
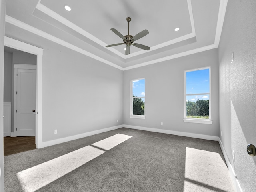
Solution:
<path fill-rule="evenodd" d="M 91 135 L 95 135 L 95 134 L 99 134 L 99 133 L 103 133 L 103 132 L 107 132 L 107 131 L 112 131 L 112 130 L 119 129 L 119 128 L 122 128 L 122 127 L 123 127 L 123 125 L 118 125 L 118 126 L 114 126 L 114 127 L 109 127 L 109 128 L 104 128 L 104 129 L 100 129 L 100 130 L 95 130 L 95 131 L 91 131 L 91 132 L 78 134 L 78 135 L 73 135 L 73 136 L 69 136 L 69 137 L 65 137 L 65 138 L 46 141 L 46 142 L 42 142 L 39 146 L 36 146 L 36 147 L 37 148 L 48 147 L 48 146 L 52 146 L 52 145 L 72 141 L 72 140 L 75 140 L 75 139 L 80 139 L 80 138 L 88 137 L 88 136 L 91 136 Z"/>

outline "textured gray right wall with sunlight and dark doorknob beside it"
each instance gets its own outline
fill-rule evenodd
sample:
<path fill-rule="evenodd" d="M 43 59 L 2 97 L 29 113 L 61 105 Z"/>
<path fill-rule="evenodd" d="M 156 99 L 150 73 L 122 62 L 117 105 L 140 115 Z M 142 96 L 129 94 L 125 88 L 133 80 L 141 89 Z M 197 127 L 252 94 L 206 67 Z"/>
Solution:
<path fill-rule="evenodd" d="M 256 188 L 256 157 L 246 152 L 256 145 L 255 10 L 255 0 L 228 1 L 219 46 L 220 139 L 244 192 Z"/>

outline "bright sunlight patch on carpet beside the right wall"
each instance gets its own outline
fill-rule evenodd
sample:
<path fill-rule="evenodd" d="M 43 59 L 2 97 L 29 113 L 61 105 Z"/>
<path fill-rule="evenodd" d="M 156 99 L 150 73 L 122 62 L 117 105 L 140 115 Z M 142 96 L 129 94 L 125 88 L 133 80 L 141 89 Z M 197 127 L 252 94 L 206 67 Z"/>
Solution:
<path fill-rule="evenodd" d="M 220 154 L 186 147 L 183 192 L 234 192 L 225 162 Z"/>

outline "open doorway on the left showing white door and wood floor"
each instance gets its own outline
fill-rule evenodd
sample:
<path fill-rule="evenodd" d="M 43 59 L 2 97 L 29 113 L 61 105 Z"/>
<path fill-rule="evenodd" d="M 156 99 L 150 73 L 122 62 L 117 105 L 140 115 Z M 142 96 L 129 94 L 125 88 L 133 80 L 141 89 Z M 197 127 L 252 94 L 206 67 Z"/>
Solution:
<path fill-rule="evenodd" d="M 36 148 L 36 62 L 4 47 L 4 155 Z"/>

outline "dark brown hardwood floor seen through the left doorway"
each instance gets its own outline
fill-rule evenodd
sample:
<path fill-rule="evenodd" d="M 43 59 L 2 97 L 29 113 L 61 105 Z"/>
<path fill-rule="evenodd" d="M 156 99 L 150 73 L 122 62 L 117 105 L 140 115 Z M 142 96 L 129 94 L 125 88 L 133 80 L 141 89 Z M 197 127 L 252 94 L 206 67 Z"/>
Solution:
<path fill-rule="evenodd" d="M 35 136 L 4 137 L 4 156 L 36 149 Z"/>

